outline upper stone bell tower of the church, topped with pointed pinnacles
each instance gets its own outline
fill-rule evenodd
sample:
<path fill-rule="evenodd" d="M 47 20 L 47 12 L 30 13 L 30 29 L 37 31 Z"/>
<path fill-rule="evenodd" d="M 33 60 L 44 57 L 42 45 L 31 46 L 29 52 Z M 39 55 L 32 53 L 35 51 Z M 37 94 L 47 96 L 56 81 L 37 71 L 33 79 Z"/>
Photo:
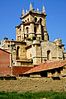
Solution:
<path fill-rule="evenodd" d="M 49 35 L 46 29 L 46 11 L 43 6 L 42 11 L 34 10 L 30 3 L 29 11 L 22 10 L 21 24 L 16 26 L 16 40 L 43 40 L 48 41 Z"/>

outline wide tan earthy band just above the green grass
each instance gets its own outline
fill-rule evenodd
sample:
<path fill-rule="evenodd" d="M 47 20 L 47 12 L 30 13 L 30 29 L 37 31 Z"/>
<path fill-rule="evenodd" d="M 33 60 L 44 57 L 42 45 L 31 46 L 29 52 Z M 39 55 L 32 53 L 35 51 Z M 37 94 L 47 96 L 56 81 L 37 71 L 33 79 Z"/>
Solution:
<path fill-rule="evenodd" d="M 52 80 L 51 78 L 18 78 L 17 80 L 0 80 L 0 91 L 66 91 L 66 78 L 62 78 L 61 80 Z"/>

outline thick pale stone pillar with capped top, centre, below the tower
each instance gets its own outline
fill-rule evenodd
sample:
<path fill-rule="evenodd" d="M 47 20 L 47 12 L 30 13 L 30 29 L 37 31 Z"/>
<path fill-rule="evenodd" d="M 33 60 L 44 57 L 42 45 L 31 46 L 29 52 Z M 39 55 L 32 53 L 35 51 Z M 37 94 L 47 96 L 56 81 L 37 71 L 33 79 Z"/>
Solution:
<path fill-rule="evenodd" d="M 41 63 L 41 46 L 40 46 L 40 42 L 37 40 L 33 41 L 32 58 L 34 65 L 38 65 Z"/>

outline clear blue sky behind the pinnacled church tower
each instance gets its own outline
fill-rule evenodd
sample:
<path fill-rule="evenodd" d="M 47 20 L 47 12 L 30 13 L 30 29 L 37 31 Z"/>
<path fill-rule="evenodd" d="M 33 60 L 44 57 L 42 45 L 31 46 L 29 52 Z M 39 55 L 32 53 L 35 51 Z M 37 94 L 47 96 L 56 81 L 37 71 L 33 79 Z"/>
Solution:
<path fill-rule="evenodd" d="M 20 24 L 22 9 L 29 10 L 30 2 L 47 13 L 50 41 L 61 38 L 66 45 L 66 0 L 0 0 L 0 40 L 5 36 L 15 39 L 15 26 Z"/>

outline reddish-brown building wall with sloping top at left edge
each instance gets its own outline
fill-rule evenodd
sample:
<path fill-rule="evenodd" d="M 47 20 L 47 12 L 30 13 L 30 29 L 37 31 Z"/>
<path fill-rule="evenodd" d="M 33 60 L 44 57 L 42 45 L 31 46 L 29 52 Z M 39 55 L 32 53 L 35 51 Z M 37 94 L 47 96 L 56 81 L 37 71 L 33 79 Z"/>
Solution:
<path fill-rule="evenodd" d="M 0 49 L 0 76 L 11 75 L 10 53 Z"/>

